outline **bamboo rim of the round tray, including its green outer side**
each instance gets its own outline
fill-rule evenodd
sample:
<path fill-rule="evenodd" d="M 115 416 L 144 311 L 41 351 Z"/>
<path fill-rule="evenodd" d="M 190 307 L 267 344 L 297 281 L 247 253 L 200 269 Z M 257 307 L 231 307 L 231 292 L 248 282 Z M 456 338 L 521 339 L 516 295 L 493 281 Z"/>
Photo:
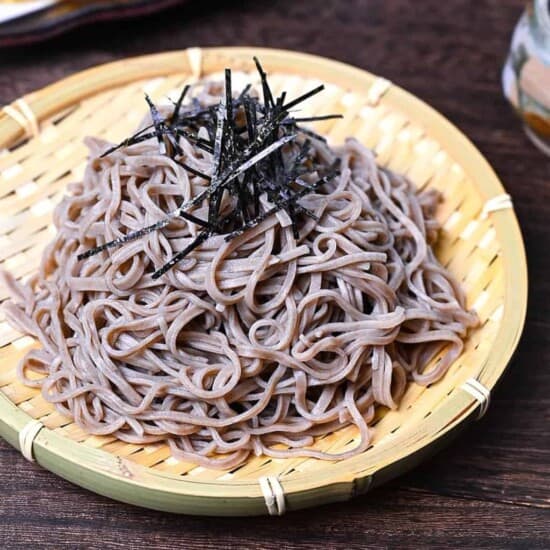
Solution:
<path fill-rule="evenodd" d="M 335 74 L 344 72 L 346 81 L 352 82 L 349 87 L 355 90 L 366 90 L 374 79 L 369 73 L 336 61 L 296 52 L 260 48 L 204 49 L 203 66 L 205 72 L 213 72 L 219 70 L 223 62 L 240 58 L 246 63 L 253 53 L 259 54 L 271 70 L 285 70 L 286 63 L 292 60 L 304 69 L 300 71 L 302 74 L 319 77 L 321 73 L 322 79 L 327 81 L 331 80 L 333 71 Z M 218 66 L 220 63 L 222 65 Z M 93 77 L 94 72 L 97 75 L 106 68 L 121 67 L 123 64 L 125 68 L 131 64 L 133 71 L 130 71 L 130 76 L 124 75 L 108 82 L 100 78 L 93 93 L 138 78 L 182 72 L 182 66 L 185 68 L 186 61 L 184 52 L 170 52 L 115 62 L 77 73 L 47 87 L 43 92 L 74 86 L 77 81 L 87 78 L 88 75 Z M 216 69 L 210 67 L 212 64 L 217 64 Z M 42 92 L 39 93 L 42 95 Z M 27 99 L 30 98 L 31 96 L 27 96 Z M 414 112 L 416 122 L 429 125 L 431 137 L 450 145 L 454 160 L 461 166 L 468 165 L 470 176 L 476 174 L 475 180 L 486 199 L 503 192 L 502 185 L 486 160 L 473 144 L 439 113 L 396 86 L 392 86 L 384 96 L 384 102 L 399 110 Z M 68 101 L 64 106 L 70 103 L 71 101 Z M 53 111 L 47 111 L 47 102 L 45 106 L 42 105 L 42 111 L 37 110 L 34 104 L 32 108 L 35 112 L 41 112 L 40 118 L 54 114 Z M 18 128 L 14 128 L 13 124 L 10 128 L 12 122 L 5 117 L 0 118 L 0 143 L 14 143 L 20 137 L 21 132 Z M 517 345 L 527 304 L 525 252 L 516 217 L 512 211 L 496 212 L 493 214 L 493 225 L 503 249 L 506 299 L 503 317 L 505 321 L 501 323 L 496 336 L 496 341 L 503 342 L 503 345 L 490 354 L 487 361 L 480 366 L 477 376 L 490 389 L 504 371 Z M 331 464 L 314 477 L 300 474 L 283 478 L 288 509 L 346 500 L 403 473 L 462 431 L 474 417 L 475 405 L 475 401 L 468 394 L 455 391 L 450 398 L 442 400 L 434 411 L 437 414 L 430 415 L 418 426 L 414 426 L 414 430 L 409 430 L 412 431 L 411 446 L 402 445 L 402 451 L 389 464 L 373 464 L 371 459 L 375 453 L 370 453 L 369 464 L 365 464 L 365 457 L 359 456 Z M 0 394 L 0 411 L 5 412 L 0 419 L 0 435 L 18 447 L 17 434 L 31 417 L 3 394 Z M 450 423 L 445 420 L 441 422 L 442 419 L 449 418 L 455 420 Z M 119 459 L 105 451 L 88 448 L 47 429 L 43 429 L 35 439 L 34 452 L 38 463 L 46 469 L 92 491 L 124 502 L 170 512 L 200 515 L 266 513 L 259 486 L 252 482 L 193 482 L 180 476 L 162 474 L 128 460 Z M 139 480 L 136 480 L 136 477 Z"/>

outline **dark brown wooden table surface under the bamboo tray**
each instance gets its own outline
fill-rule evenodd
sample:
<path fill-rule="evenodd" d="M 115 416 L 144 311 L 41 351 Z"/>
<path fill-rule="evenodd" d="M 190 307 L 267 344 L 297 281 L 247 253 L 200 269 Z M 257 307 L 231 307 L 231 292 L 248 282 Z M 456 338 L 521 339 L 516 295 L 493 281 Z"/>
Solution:
<path fill-rule="evenodd" d="M 194 45 L 333 57 L 431 103 L 487 156 L 523 228 L 530 307 L 486 417 L 411 473 L 283 518 L 211 519 L 112 502 L 0 442 L 3 548 L 550 548 L 550 160 L 524 137 L 500 70 L 519 0 L 191 1 L 0 51 L 0 104 L 92 65 Z"/>

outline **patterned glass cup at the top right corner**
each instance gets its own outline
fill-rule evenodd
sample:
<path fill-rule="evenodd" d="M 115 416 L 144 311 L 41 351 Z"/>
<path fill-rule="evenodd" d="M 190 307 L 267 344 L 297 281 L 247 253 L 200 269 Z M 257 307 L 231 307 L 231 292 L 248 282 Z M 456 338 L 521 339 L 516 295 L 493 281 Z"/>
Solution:
<path fill-rule="evenodd" d="M 530 0 L 502 71 L 504 94 L 525 132 L 550 155 L 550 0 Z"/>

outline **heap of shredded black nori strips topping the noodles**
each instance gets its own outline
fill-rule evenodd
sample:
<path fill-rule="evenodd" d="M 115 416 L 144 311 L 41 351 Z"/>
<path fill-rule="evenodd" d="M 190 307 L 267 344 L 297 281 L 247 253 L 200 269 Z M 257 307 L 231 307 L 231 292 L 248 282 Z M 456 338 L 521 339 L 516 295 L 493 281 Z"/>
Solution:
<path fill-rule="evenodd" d="M 319 221 L 313 212 L 298 201 L 336 177 L 337 164 L 327 168 L 316 159 L 311 140 L 325 139 L 299 123 L 336 119 L 341 118 L 341 115 L 289 116 L 290 109 L 321 92 L 324 86 L 317 86 L 285 103 L 286 92 L 283 91 L 275 99 L 267 73 L 256 57 L 254 63 L 261 80 L 263 101 L 250 94 L 250 84 L 234 97 L 229 69 L 224 73 L 224 92 L 218 105 L 203 107 L 196 97 L 187 99 L 191 86 L 186 85 L 167 120 L 151 98 L 145 95 L 152 124 L 109 148 L 101 157 L 156 138 L 161 155 L 170 157 L 192 176 L 202 178 L 208 182 L 208 186 L 165 218 L 90 248 L 78 255 L 79 260 L 161 230 L 178 217 L 200 226 L 202 229 L 190 244 L 153 273 L 153 279 L 157 279 L 212 235 L 225 235 L 225 240 L 229 241 L 280 210 L 289 215 L 296 239 L 299 239 L 300 216 Z M 186 99 L 187 105 L 184 106 Z M 201 128 L 206 130 L 208 139 L 199 137 Z M 305 136 L 305 139 L 298 139 L 298 136 Z M 204 174 L 186 162 L 180 139 L 186 139 L 212 155 L 211 174 Z M 290 149 L 283 154 L 283 149 L 287 150 L 285 148 Z M 315 172 L 319 174 L 315 183 L 303 179 L 307 174 Z M 262 212 L 260 197 L 263 194 L 274 206 Z M 224 197 L 230 197 L 232 201 L 233 209 L 229 212 Z M 208 201 L 207 220 L 189 212 L 189 209 L 205 200 Z"/>

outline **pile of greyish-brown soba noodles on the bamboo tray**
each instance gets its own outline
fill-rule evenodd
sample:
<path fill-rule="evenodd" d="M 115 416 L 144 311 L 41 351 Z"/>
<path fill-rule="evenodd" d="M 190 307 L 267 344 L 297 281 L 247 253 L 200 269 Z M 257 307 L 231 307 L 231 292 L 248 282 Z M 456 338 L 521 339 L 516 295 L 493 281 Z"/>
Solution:
<path fill-rule="evenodd" d="M 188 164 L 211 172 L 209 153 L 180 143 Z M 304 217 L 299 240 L 273 215 L 230 242 L 211 237 L 157 280 L 195 224 L 177 218 L 77 255 L 162 219 L 207 182 L 154 140 L 105 158 L 108 144 L 88 145 L 38 273 L 26 284 L 3 277 L 9 321 L 41 343 L 19 376 L 91 434 L 167 441 L 174 457 L 215 468 L 250 454 L 350 457 L 368 447 L 375 407 L 397 407 L 409 380 L 441 378 L 477 321 L 431 248 L 438 194 L 378 167 L 354 139 L 335 151 L 316 143 L 341 173 L 301 199 L 320 220 Z M 191 212 L 204 217 L 206 205 Z M 354 448 L 315 449 L 350 424 Z"/>

